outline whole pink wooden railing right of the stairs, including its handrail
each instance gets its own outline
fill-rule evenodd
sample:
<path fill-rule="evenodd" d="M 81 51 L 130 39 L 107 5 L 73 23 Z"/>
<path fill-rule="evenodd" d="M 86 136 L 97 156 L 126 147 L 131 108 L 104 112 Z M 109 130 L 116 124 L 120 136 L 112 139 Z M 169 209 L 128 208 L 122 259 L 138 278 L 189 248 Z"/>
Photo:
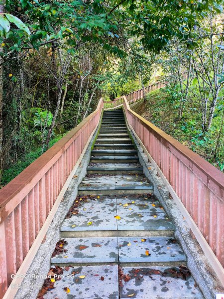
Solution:
<path fill-rule="evenodd" d="M 224 285 L 224 173 L 132 111 L 125 96 L 123 101 L 129 125 L 193 219 L 195 237 L 207 241 L 197 238 Z"/>

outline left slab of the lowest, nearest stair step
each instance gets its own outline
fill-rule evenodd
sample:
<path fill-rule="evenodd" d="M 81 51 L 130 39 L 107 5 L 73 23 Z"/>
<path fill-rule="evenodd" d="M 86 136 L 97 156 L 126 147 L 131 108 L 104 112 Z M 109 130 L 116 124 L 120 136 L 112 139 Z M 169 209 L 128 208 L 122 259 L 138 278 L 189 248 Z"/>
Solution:
<path fill-rule="evenodd" d="M 64 278 L 43 299 L 118 299 L 117 266 L 63 267 Z"/>

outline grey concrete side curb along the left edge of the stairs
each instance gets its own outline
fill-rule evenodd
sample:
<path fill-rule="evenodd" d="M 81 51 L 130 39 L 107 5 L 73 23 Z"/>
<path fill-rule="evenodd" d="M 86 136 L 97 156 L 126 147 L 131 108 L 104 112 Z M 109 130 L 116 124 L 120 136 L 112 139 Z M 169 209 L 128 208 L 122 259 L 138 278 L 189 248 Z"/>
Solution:
<path fill-rule="evenodd" d="M 36 299 L 38 292 L 43 285 L 44 278 L 38 278 L 38 275 L 47 275 L 50 269 L 50 258 L 55 249 L 56 243 L 60 239 L 60 226 L 78 194 L 79 184 L 87 173 L 87 166 L 90 161 L 91 146 L 95 140 L 95 137 L 97 136 L 99 126 L 93 135 L 83 159 L 75 173 L 77 177 L 71 180 L 71 183 L 65 192 L 64 199 L 58 207 L 58 210 L 54 216 L 54 220 L 52 221 L 46 234 L 46 240 L 39 247 L 33 262 L 29 267 L 29 270 L 26 273 L 28 278 L 23 279 L 21 287 L 18 289 L 14 297 L 15 299 Z M 32 278 L 32 275 L 35 275 L 36 278 Z"/>

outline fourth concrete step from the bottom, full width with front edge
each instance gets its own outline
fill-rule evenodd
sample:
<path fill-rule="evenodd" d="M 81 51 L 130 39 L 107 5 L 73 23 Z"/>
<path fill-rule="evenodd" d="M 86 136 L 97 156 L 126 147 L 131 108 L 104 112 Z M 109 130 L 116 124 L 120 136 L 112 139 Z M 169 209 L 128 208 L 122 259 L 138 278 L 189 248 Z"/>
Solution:
<path fill-rule="evenodd" d="M 79 194 L 153 193 L 153 185 L 143 175 L 87 175 L 78 187 Z"/>

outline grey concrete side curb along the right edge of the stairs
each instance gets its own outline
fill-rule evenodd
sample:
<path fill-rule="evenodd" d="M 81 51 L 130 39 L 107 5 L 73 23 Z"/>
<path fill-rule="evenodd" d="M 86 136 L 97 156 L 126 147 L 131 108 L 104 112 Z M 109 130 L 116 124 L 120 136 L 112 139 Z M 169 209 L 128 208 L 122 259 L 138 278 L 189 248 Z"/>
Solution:
<path fill-rule="evenodd" d="M 175 225 L 175 238 L 187 256 L 187 266 L 192 276 L 204 297 L 206 299 L 215 299 L 217 293 L 224 293 L 224 290 L 222 290 L 217 283 L 218 278 L 215 272 L 197 240 L 192 238 L 187 222 L 184 220 L 174 200 L 169 197 L 169 191 L 162 179 L 157 175 L 156 169 L 148 160 L 147 155 L 144 153 L 129 127 L 128 130 L 137 147 L 139 163 L 143 166 L 144 174 L 153 183 L 155 196 Z"/>

